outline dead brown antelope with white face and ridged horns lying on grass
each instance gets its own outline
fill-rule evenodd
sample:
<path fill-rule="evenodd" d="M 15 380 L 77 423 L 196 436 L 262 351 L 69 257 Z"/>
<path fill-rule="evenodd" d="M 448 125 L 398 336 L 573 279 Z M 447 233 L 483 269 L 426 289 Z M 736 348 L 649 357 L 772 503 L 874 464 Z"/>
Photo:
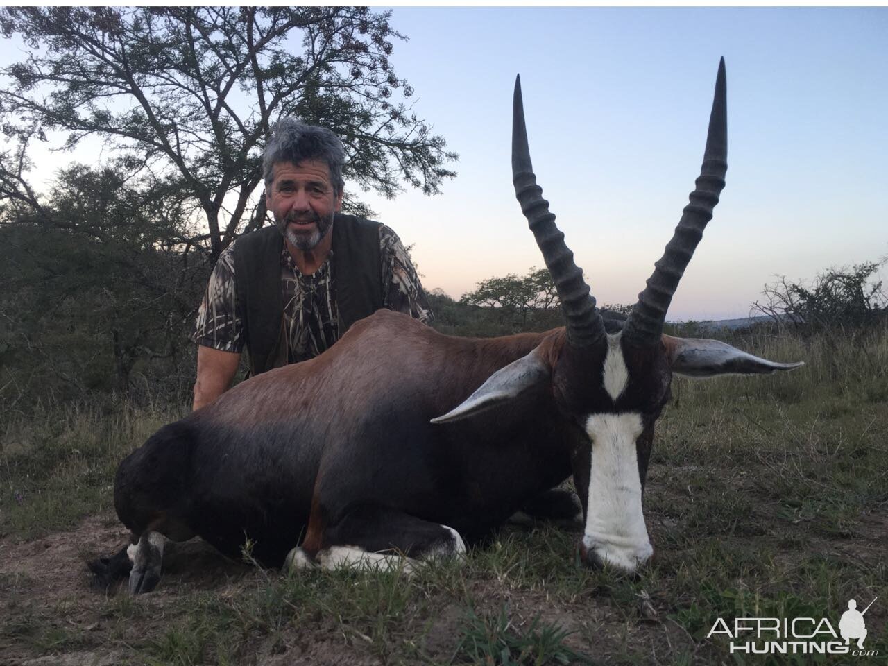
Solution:
<path fill-rule="evenodd" d="M 132 545 L 96 569 L 131 568 L 131 591 L 153 589 L 162 535 L 200 535 L 234 557 L 249 539 L 277 567 L 455 554 L 462 536 L 483 535 L 573 473 L 583 562 L 634 571 L 653 552 L 642 490 L 672 373 L 800 365 L 662 334 L 725 184 L 725 155 L 722 61 L 696 189 L 628 321 L 608 333 L 535 184 L 516 81 L 515 191 L 566 327 L 470 339 L 373 314 L 328 352 L 243 382 L 123 460 L 115 508 Z"/>

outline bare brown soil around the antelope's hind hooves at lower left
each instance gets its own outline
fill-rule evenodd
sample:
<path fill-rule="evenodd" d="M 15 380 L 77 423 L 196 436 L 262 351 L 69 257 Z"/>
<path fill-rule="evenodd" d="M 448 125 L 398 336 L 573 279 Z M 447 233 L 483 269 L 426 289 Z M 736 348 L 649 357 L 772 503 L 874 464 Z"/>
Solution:
<path fill-rule="evenodd" d="M 175 619 L 167 615 L 170 601 L 258 575 L 199 540 L 170 544 L 164 554 L 162 587 L 154 594 L 127 599 L 132 607 L 122 613 L 115 605 L 126 596 L 125 588 L 117 598 L 114 591 L 108 596 L 92 589 L 86 562 L 111 555 L 126 542 L 125 528 L 110 514 L 92 516 L 74 530 L 33 541 L 0 539 L 0 663 L 128 662 L 123 646 L 162 636 Z"/>

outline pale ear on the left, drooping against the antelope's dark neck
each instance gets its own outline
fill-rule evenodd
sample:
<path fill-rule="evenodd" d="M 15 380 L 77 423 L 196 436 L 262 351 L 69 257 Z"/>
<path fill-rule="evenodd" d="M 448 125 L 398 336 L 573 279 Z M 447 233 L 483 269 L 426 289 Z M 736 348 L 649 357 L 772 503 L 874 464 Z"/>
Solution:
<path fill-rule="evenodd" d="M 496 370 L 476 392 L 447 414 L 432 418 L 432 423 L 446 424 L 475 416 L 549 381 L 551 381 L 551 368 L 543 361 L 540 348 L 536 347 L 527 356 L 522 356 L 518 361 L 512 361 L 505 368 Z"/>

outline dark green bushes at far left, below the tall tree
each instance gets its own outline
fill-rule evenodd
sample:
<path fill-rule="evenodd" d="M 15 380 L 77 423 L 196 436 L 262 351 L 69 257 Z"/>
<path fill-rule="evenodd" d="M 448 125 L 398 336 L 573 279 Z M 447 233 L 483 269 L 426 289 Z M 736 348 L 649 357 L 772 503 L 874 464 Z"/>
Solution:
<path fill-rule="evenodd" d="M 190 382 L 183 347 L 208 269 L 183 266 L 183 250 L 163 244 L 157 221 L 177 226 L 169 204 L 147 201 L 113 170 L 74 164 L 40 214 L 17 210 L 0 225 L 4 409 L 131 392 L 135 375 L 167 392 Z"/>

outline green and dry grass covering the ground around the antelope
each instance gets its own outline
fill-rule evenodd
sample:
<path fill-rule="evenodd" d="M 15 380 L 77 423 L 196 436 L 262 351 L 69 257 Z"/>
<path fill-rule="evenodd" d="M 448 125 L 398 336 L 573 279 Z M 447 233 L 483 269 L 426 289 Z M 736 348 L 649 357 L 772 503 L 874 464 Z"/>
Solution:
<path fill-rule="evenodd" d="M 741 663 L 722 617 L 827 617 L 865 606 L 888 654 L 888 332 L 862 343 L 753 336 L 773 377 L 677 377 L 646 490 L 654 562 L 634 579 L 579 567 L 579 535 L 504 528 L 463 566 L 403 572 L 248 572 L 174 578 L 144 599 L 36 607 L 39 575 L 0 575 L 0 661 L 116 649 L 135 663 Z M 107 511 L 115 464 L 176 409 L 57 408 L 5 424 L 0 533 L 33 538 Z M 116 544 L 115 544 L 116 545 Z M 75 609 L 76 610 L 76 609 Z M 781 661 L 782 660 L 782 661 Z M 749 662 L 749 661 L 748 661 Z M 861 659 L 860 663 L 866 662 Z M 793 662 L 791 655 L 773 663 Z M 829 663 L 842 663 L 836 658 Z"/>

